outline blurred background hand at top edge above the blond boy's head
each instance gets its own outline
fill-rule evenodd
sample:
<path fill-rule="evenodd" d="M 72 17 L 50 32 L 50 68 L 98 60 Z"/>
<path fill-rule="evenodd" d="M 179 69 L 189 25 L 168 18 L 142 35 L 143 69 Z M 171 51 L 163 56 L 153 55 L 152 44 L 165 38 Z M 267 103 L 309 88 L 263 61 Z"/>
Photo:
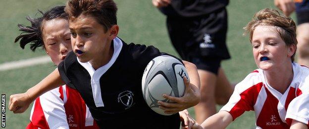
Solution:
<path fill-rule="evenodd" d="M 295 3 L 293 0 L 274 0 L 274 3 L 286 16 L 290 16 L 295 10 Z"/>

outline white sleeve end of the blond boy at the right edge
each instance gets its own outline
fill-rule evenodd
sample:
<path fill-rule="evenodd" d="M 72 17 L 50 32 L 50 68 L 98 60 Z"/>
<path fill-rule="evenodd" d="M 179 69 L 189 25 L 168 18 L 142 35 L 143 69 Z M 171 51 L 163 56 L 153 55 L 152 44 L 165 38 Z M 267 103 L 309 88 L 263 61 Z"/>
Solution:
<path fill-rule="evenodd" d="M 308 125 L 309 94 L 302 94 L 291 101 L 285 119 L 293 119 Z"/>

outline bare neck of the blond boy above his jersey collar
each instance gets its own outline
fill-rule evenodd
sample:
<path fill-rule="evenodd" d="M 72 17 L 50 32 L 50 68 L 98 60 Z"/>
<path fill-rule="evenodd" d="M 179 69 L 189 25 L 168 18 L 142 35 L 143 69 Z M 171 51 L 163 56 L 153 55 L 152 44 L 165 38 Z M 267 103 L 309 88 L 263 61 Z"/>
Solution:
<path fill-rule="evenodd" d="M 281 94 L 288 89 L 293 80 L 293 66 L 287 65 L 276 70 L 264 71 L 267 83 Z"/>

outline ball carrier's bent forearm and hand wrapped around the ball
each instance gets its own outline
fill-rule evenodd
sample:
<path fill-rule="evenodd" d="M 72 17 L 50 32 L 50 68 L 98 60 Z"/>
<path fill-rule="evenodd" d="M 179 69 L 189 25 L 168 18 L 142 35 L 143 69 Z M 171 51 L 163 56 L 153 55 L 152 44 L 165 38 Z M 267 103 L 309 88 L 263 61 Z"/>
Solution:
<path fill-rule="evenodd" d="M 185 93 L 182 97 L 173 97 L 163 94 L 163 97 L 172 101 L 172 103 L 158 101 L 159 108 L 165 110 L 167 114 L 174 114 L 183 111 L 187 108 L 197 105 L 201 100 L 200 93 L 200 77 L 196 65 L 183 61 L 190 78 L 189 80 L 184 77 Z"/>

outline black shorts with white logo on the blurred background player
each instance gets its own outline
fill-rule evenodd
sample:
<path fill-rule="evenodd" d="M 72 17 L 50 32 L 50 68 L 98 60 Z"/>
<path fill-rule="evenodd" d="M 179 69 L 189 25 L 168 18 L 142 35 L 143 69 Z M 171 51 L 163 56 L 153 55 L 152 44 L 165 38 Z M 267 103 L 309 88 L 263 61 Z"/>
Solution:
<path fill-rule="evenodd" d="M 230 58 L 225 44 L 225 8 L 193 18 L 168 16 L 166 24 L 169 37 L 178 54 L 183 60 L 197 65 L 198 69 L 217 74 L 221 60 Z"/>

